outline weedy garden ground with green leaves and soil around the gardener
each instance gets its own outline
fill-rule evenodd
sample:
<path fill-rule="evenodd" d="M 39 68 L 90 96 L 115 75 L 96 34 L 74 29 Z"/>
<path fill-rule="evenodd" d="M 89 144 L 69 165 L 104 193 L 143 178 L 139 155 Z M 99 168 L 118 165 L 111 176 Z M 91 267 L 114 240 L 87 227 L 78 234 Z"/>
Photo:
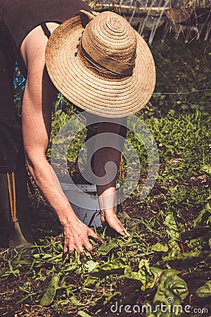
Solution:
<path fill-rule="evenodd" d="M 60 224 L 35 188 L 30 205 L 37 244 L 30 258 L 8 253 L 1 225 L 1 316 L 210 316 L 210 46 L 171 39 L 154 44 L 152 51 L 158 85 L 138 116 L 158 144 L 160 170 L 150 194 L 139 199 L 148 157 L 128 132 L 141 177 L 118 216 L 131 236 L 105 229 L 98 233 L 105 242 L 94 244 L 95 256 L 86 252 L 83 262 L 77 254 L 63 259 Z M 60 97 L 51 142 L 74 113 Z M 75 159 L 84 137 L 85 130 L 68 152 L 76 182 Z M 125 159 L 123 166 L 127 175 Z"/>

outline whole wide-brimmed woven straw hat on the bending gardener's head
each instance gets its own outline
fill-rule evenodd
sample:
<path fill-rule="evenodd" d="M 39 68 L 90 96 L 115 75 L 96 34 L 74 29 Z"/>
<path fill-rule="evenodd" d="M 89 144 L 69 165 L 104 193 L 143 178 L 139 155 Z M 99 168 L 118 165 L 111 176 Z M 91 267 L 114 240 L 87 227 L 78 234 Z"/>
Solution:
<path fill-rule="evenodd" d="M 148 45 L 127 20 L 108 11 L 80 11 L 57 27 L 46 46 L 46 68 L 68 100 L 108 118 L 136 113 L 155 88 Z"/>

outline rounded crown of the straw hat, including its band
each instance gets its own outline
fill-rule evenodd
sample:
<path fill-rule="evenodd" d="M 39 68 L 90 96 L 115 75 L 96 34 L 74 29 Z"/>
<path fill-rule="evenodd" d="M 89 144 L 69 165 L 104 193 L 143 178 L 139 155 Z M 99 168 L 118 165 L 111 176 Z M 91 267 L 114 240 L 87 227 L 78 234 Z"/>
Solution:
<path fill-rule="evenodd" d="M 82 49 L 96 63 L 119 75 L 132 74 L 136 44 L 132 26 L 112 12 L 103 12 L 91 20 L 81 39 Z"/>

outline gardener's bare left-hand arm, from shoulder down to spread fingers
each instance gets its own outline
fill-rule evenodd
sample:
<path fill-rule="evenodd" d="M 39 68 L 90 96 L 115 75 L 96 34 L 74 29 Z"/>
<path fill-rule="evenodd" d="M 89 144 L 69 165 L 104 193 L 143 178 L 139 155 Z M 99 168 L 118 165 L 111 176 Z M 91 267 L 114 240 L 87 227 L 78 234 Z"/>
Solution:
<path fill-rule="evenodd" d="M 27 166 L 63 225 L 64 252 L 71 253 L 76 249 L 80 254 L 84 254 L 83 247 L 88 251 L 92 250 L 89 237 L 96 240 L 98 237 L 77 218 L 68 199 L 58 189 L 51 166 L 46 161 L 51 132 L 51 106 L 56 97 L 56 89 L 46 72 L 44 51 L 47 38 L 39 28 L 27 36 L 22 46 L 28 70 L 22 113 Z"/>

